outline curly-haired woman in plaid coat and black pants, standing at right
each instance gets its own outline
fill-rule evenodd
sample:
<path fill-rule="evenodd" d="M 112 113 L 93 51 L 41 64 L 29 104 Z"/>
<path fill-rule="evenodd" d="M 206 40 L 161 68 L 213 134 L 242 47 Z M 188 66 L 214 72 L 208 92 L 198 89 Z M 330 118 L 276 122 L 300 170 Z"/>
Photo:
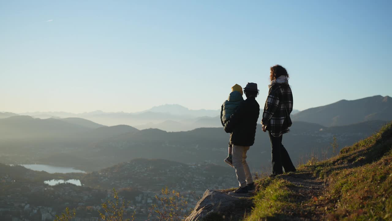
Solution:
<path fill-rule="evenodd" d="M 293 96 L 289 85 L 289 74 L 280 65 L 270 68 L 269 92 L 261 120 L 264 132 L 269 131 L 272 147 L 272 176 L 296 171 L 289 153 L 282 144 L 283 134 L 289 133 L 288 117 L 293 109 Z"/>

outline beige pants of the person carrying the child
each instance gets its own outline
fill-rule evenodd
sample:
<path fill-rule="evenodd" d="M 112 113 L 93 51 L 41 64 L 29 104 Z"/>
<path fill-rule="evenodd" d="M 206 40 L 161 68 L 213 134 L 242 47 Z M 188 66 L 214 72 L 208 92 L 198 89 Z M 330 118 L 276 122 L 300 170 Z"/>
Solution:
<path fill-rule="evenodd" d="M 233 166 L 234 169 L 236 169 L 237 180 L 240 183 L 241 188 L 245 187 L 246 184 L 253 182 L 252 174 L 250 173 L 248 163 L 246 162 L 246 153 L 248 150 L 249 147 L 233 145 Z"/>

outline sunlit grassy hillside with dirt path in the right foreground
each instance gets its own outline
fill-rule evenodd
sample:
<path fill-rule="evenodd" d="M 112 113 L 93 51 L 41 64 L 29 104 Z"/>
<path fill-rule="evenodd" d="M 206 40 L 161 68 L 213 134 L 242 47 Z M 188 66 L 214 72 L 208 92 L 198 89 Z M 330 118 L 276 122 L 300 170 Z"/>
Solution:
<path fill-rule="evenodd" d="M 392 220 L 392 122 L 336 157 L 256 183 L 245 221 Z"/>

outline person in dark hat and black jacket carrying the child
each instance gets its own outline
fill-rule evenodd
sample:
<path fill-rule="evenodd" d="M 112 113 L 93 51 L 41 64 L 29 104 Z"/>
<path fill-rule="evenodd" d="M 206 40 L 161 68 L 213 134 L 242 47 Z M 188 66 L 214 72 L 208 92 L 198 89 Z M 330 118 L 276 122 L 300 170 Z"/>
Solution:
<path fill-rule="evenodd" d="M 225 123 L 226 133 L 230 133 L 232 145 L 232 162 L 236 169 L 237 180 L 240 187 L 230 195 L 243 195 L 254 192 L 254 183 L 248 163 L 246 162 L 247 151 L 254 144 L 256 135 L 257 119 L 259 118 L 260 106 L 256 101 L 259 90 L 256 83 L 248 83 L 244 88 L 247 97 L 242 101 L 230 120 Z"/>

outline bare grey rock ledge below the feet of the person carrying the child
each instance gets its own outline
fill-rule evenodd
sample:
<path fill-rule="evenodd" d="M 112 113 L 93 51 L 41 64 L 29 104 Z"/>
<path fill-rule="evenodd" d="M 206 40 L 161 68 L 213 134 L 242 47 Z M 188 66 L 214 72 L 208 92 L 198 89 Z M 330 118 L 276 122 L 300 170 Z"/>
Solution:
<path fill-rule="evenodd" d="M 249 197 L 235 197 L 227 192 L 206 190 L 185 221 L 237 221 L 250 212 Z"/>

